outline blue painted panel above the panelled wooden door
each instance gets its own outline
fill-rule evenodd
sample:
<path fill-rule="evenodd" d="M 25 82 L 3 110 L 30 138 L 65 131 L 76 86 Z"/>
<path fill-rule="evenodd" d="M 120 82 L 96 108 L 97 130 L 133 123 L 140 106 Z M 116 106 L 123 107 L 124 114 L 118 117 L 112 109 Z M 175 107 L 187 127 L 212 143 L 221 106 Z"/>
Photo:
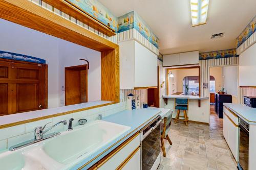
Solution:
<path fill-rule="evenodd" d="M 23 54 L 5 52 L 5 51 L 0 51 L 0 59 L 1 58 L 10 59 L 10 60 L 27 61 L 27 62 L 32 62 L 32 63 L 40 63 L 40 64 L 46 63 L 46 60 L 44 60 L 44 59 L 26 56 Z"/>

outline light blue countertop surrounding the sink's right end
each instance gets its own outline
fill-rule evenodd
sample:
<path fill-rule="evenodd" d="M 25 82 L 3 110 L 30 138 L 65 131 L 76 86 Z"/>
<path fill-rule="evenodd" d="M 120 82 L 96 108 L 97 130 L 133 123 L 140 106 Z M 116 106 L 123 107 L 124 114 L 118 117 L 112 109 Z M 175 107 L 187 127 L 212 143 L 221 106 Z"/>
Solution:
<path fill-rule="evenodd" d="M 111 151 L 113 151 L 115 148 L 118 147 L 121 143 L 123 143 L 126 139 L 133 136 L 136 132 L 138 132 L 140 129 L 142 129 L 147 123 L 149 123 L 151 120 L 156 118 L 161 113 L 160 109 L 135 109 L 135 110 L 124 110 L 115 114 L 112 114 L 107 117 L 103 117 L 102 120 L 107 122 L 112 122 L 124 126 L 129 126 L 131 129 L 124 134 L 120 135 L 117 139 L 100 149 L 98 152 L 92 154 L 87 159 L 81 161 L 79 164 L 75 165 L 71 169 L 77 169 L 84 164 L 87 164 L 84 166 L 83 169 L 88 169 L 93 164 L 98 162 L 100 159 L 102 159 L 104 156 L 109 154 Z M 90 162 L 90 163 L 88 163 Z"/>

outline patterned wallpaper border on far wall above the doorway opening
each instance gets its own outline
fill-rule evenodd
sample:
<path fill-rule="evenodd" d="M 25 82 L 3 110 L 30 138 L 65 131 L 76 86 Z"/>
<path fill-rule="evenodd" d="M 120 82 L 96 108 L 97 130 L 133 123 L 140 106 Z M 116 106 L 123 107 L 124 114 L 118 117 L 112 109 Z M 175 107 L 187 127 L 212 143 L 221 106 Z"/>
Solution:
<path fill-rule="evenodd" d="M 199 53 L 199 60 L 210 60 L 210 59 L 229 58 L 229 57 L 239 57 L 239 55 L 237 55 L 237 50 L 228 49 L 228 50 Z"/>

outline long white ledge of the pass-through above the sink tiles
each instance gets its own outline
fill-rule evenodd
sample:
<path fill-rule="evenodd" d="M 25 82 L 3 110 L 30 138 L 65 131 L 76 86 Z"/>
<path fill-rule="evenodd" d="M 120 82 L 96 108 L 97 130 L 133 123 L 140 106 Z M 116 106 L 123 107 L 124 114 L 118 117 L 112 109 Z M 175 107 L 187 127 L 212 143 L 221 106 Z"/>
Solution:
<path fill-rule="evenodd" d="M 0 126 L 12 124 L 16 122 L 22 122 L 34 118 L 44 117 L 44 116 L 50 116 L 58 113 L 64 113 L 68 111 L 103 105 L 103 104 L 109 104 L 112 103 L 110 101 L 94 101 L 94 102 L 88 102 L 88 103 L 81 103 L 76 105 L 69 105 L 69 106 L 62 106 L 62 107 L 56 107 L 56 108 L 49 108 L 49 109 L 42 109 L 42 110 L 35 110 L 35 111 L 29 111 L 29 112 L 23 112 L 23 113 L 16 113 L 16 114 L 10 114 L 10 115 L 4 115 L 0 116 Z"/>

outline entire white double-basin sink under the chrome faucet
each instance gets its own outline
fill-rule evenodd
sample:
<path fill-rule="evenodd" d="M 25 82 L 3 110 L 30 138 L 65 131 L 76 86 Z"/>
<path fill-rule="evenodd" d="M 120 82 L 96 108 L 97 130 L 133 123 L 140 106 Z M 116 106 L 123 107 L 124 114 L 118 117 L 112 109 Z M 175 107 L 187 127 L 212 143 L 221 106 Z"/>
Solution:
<path fill-rule="evenodd" d="M 131 127 L 96 120 L 81 128 L 0 154 L 1 169 L 66 169 L 88 158 Z"/>

